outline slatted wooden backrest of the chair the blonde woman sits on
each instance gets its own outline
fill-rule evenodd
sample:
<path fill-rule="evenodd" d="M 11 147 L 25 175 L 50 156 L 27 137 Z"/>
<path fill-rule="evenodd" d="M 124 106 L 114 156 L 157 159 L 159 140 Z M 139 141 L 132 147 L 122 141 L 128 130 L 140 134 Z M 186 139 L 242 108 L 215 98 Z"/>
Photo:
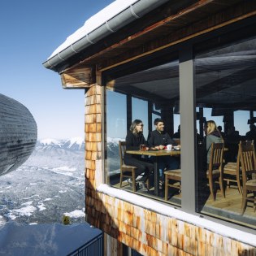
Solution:
<path fill-rule="evenodd" d="M 209 171 L 223 167 L 223 143 L 211 143 Z"/>

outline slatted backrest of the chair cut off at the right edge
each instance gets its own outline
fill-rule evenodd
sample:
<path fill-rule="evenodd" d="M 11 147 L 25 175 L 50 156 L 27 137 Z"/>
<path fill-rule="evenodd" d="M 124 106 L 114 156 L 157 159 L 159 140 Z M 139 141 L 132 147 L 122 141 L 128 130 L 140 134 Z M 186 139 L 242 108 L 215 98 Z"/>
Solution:
<path fill-rule="evenodd" d="M 254 141 L 240 142 L 239 150 L 241 158 L 242 179 L 243 184 L 245 184 L 248 180 L 248 176 L 252 173 L 256 173 Z"/>

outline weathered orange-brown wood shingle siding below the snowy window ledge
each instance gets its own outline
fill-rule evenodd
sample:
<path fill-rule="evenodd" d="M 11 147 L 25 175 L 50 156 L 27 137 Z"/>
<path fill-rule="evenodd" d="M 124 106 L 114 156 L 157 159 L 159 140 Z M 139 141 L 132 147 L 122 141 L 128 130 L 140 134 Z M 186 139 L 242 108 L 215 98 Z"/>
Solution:
<path fill-rule="evenodd" d="M 256 255 L 253 246 L 104 193 L 86 193 L 87 220 L 143 255 Z"/>

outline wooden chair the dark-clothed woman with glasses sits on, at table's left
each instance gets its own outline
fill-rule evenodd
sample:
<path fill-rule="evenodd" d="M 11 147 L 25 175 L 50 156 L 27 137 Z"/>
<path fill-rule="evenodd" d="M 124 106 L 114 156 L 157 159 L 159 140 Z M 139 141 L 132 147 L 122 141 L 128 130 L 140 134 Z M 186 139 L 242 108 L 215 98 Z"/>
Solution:
<path fill-rule="evenodd" d="M 124 178 L 130 178 L 132 180 L 132 191 L 136 191 L 136 177 L 135 172 L 137 167 L 124 164 L 124 153 L 126 150 L 126 142 L 119 141 L 119 156 L 120 156 L 120 188 Z"/>

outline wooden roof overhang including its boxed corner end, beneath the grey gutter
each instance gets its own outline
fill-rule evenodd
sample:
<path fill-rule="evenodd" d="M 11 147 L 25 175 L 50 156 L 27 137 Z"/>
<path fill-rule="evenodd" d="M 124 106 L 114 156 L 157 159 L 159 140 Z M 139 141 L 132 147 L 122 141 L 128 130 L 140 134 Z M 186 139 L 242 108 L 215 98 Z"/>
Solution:
<path fill-rule="evenodd" d="M 95 83 L 96 68 L 103 72 L 240 20 L 254 18 L 255 10 L 255 2 L 241 0 L 167 1 L 140 20 L 130 21 L 115 33 L 49 66 L 50 59 L 61 56 L 54 51 L 44 65 L 61 74 L 64 88 L 88 88 Z M 72 45 L 63 51 L 68 53 L 69 47 Z"/>

